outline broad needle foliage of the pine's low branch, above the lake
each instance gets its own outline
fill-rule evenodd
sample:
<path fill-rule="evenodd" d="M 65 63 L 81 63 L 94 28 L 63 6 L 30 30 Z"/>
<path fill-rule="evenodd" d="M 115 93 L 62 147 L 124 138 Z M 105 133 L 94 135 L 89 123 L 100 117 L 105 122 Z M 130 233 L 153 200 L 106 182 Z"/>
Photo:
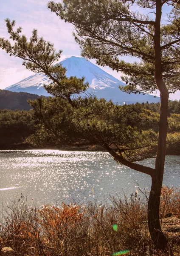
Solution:
<path fill-rule="evenodd" d="M 78 97 L 68 103 L 58 97 L 31 101 L 40 130 L 29 137 L 40 145 L 107 145 L 124 158 L 140 160 L 155 154 L 153 131 L 141 104 L 114 105 L 96 97 Z M 137 111 L 135 110 L 137 109 Z"/>

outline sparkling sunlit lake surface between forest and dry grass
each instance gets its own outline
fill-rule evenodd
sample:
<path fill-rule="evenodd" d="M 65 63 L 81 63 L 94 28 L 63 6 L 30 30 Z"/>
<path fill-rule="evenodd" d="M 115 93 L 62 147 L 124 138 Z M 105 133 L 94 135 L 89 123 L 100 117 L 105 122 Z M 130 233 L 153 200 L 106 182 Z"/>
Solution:
<path fill-rule="evenodd" d="M 143 160 L 154 167 L 155 159 Z M 3 203 L 27 196 L 36 204 L 106 202 L 109 195 L 150 189 L 148 175 L 122 166 L 107 152 L 60 150 L 0 151 L 0 197 Z M 180 187 L 180 156 L 166 156 L 163 184 Z"/>

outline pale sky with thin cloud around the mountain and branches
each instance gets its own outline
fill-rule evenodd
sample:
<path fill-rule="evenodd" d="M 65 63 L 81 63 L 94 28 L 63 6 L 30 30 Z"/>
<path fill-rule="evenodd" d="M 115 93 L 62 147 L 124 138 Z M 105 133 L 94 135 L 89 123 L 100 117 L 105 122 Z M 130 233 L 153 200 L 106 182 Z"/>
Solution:
<path fill-rule="evenodd" d="M 0 37 L 9 38 L 4 19 L 16 20 L 16 27 L 23 27 L 22 33 L 28 38 L 34 28 L 38 35 L 54 44 L 56 50 L 63 50 L 61 58 L 80 56 L 79 45 L 73 39 L 73 26 L 60 20 L 53 12 L 47 9 L 48 0 L 0 0 Z M 138 7 L 137 7 L 138 8 Z M 167 7 L 165 11 L 168 11 Z M 124 58 L 126 60 L 126 58 Z M 129 61 L 129 59 L 128 59 Z M 9 56 L 0 49 L 0 89 L 15 84 L 34 73 L 22 66 L 22 60 Z M 96 64 L 96 60 L 91 60 Z M 107 73 L 121 80 L 121 73 L 109 67 L 101 67 Z M 170 94 L 170 99 L 180 99 L 180 91 Z"/>

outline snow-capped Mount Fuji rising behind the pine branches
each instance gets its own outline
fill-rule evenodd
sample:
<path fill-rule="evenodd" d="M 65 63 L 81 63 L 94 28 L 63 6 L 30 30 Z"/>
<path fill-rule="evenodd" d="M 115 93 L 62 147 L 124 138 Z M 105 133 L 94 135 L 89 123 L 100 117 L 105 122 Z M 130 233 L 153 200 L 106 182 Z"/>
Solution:
<path fill-rule="evenodd" d="M 122 81 L 111 76 L 100 67 L 87 61 L 81 57 L 65 58 L 59 62 L 67 69 L 67 76 L 85 77 L 85 81 L 89 82 L 89 93 L 94 93 L 98 98 L 112 99 L 114 103 L 123 105 L 142 102 L 160 102 L 159 97 L 149 94 L 127 94 L 119 90 L 119 85 L 125 85 Z M 50 96 L 44 89 L 43 84 L 48 84 L 51 80 L 44 73 L 36 73 L 33 76 L 23 79 L 22 81 L 6 87 L 5 90 L 13 92 L 27 92 L 44 96 Z"/>

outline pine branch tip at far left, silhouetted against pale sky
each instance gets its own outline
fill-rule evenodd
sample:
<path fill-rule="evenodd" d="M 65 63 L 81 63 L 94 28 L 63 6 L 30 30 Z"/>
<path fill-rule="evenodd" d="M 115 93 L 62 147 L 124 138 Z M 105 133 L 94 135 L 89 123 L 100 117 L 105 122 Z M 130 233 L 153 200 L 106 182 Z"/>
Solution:
<path fill-rule="evenodd" d="M 16 31 L 13 30 L 15 26 L 15 20 L 11 21 L 6 19 L 6 27 L 8 33 L 10 34 L 10 39 L 15 41 L 14 45 L 11 45 L 9 40 L 0 38 L 0 48 L 5 49 L 10 55 L 20 57 L 24 60 L 23 65 L 31 71 L 34 72 L 47 72 L 49 75 L 57 73 L 57 69 L 61 71 L 61 78 L 65 76 L 65 68 L 51 67 L 51 65 L 58 61 L 62 51 L 55 52 L 53 44 L 49 41 L 46 42 L 42 37 L 39 38 L 37 35 L 37 29 L 34 29 L 30 41 L 25 37 L 25 35 L 20 35 L 22 28 L 17 28 Z M 57 77 L 58 79 L 58 77 Z"/>

